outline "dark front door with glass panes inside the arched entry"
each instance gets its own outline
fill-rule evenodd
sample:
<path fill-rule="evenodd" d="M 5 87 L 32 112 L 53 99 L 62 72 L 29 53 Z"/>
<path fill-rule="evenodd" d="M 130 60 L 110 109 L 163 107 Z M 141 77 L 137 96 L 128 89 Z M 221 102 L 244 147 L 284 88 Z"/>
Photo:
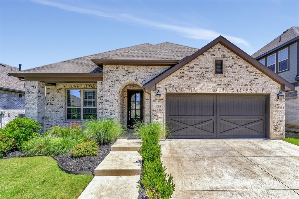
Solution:
<path fill-rule="evenodd" d="M 142 121 L 142 91 L 128 91 L 128 126 Z"/>

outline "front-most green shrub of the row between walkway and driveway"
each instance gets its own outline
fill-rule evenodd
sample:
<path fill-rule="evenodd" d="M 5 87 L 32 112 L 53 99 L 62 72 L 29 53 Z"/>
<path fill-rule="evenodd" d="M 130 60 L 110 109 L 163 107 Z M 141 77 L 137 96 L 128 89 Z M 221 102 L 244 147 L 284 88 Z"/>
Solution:
<path fill-rule="evenodd" d="M 140 182 L 144 185 L 145 193 L 152 199 L 169 199 L 175 190 L 173 176 L 165 173 L 160 159 L 144 162 L 143 177 Z"/>

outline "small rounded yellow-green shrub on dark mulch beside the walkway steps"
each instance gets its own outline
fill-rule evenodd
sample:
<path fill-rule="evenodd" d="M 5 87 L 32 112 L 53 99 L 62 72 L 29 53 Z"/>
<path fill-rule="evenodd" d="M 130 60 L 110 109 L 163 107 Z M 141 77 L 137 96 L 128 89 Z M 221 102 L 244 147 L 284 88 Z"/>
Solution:
<path fill-rule="evenodd" d="M 97 155 L 97 143 L 95 140 L 82 142 L 72 150 L 74 157 L 83 157 L 87 155 Z"/>

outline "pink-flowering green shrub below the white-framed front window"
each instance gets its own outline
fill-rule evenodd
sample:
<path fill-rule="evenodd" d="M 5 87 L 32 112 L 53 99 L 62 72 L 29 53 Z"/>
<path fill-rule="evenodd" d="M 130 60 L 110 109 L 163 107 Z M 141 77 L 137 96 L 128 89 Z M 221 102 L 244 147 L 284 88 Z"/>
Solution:
<path fill-rule="evenodd" d="M 50 130 L 45 132 L 44 136 L 54 135 L 55 137 L 74 137 L 82 141 L 87 141 L 87 136 L 82 133 L 80 123 L 69 123 L 66 126 L 52 126 Z"/>

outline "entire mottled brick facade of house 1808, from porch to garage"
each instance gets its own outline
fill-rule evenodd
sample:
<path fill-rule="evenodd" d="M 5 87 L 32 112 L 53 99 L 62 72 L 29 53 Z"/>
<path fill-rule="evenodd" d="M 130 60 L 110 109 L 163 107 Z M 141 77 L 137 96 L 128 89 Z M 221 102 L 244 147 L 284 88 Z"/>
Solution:
<path fill-rule="evenodd" d="M 215 74 L 215 59 L 223 59 L 223 74 Z M 57 83 L 46 87 L 46 128 L 52 125 L 65 125 L 65 89 L 97 89 L 98 117 L 126 120 L 126 99 L 128 89 L 140 89 L 141 86 L 157 76 L 168 66 L 103 66 L 103 82 Z M 27 81 L 28 82 L 28 81 Z M 26 82 L 26 85 L 27 85 Z M 29 81 L 33 82 L 33 81 Z M 38 83 L 39 88 L 42 88 Z M 31 88 L 32 86 L 32 88 Z M 27 87 L 27 86 L 26 86 Z M 28 85 L 34 95 L 36 81 Z M 269 94 L 270 95 L 270 137 L 284 137 L 285 103 L 277 100 L 280 84 L 245 62 L 233 52 L 217 44 L 175 73 L 157 84 L 161 100 L 156 100 L 156 91 L 151 91 L 152 120 L 165 124 L 165 94 L 171 93 L 223 93 L 223 94 Z M 26 89 L 27 92 L 27 89 Z M 149 91 L 148 91 L 149 92 Z M 161 109 L 154 109 L 155 103 L 162 103 Z M 41 103 L 39 103 L 41 105 Z M 35 109 L 33 104 L 30 104 Z M 26 107 L 29 107 L 28 105 Z M 34 111 L 33 111 L 34 112 Z M 32 112 L 32 114 L 33 114 Z M 27 111 L 27 113 L 29 113 Z M 34 112 L 35 113 L 35 112 Z M 144 120 L 149 121 L 149 94 L 144 93 Z"/>

